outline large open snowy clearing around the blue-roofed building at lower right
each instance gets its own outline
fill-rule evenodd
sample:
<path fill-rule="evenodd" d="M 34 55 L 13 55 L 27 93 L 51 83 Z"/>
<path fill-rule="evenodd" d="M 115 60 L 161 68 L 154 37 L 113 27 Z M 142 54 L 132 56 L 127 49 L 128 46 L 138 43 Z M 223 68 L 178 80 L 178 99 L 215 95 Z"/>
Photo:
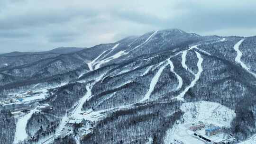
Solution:
<path fill-rule="evenodd" d="M 209 101 L 184 103 L 181 110 L 184 112 L 183 118 L 177 121 L 173 128 L 167 130 L 165 144 L 174 143 L 175 140 L 182 141 L 184 144 L 205 144 L 193 136 L 193 132 L 188 129 L 189 126 L 202 121 L 207 124 L 229 127 L 232 119 L 236 117 L 234 110 Z M 218 136 L 212 138 L 216 139 Z"/>

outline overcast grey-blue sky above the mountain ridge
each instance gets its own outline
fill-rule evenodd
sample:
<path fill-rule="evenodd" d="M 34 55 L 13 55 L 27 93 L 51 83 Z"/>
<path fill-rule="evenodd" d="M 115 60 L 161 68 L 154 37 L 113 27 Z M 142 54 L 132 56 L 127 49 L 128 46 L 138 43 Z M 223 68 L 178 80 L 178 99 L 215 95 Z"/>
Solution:
<path fill-rule="evenodd" d="M 91 47 L 180 28 L 256 35 L 256 0 L 0 0 L 0 53 Z"/>

